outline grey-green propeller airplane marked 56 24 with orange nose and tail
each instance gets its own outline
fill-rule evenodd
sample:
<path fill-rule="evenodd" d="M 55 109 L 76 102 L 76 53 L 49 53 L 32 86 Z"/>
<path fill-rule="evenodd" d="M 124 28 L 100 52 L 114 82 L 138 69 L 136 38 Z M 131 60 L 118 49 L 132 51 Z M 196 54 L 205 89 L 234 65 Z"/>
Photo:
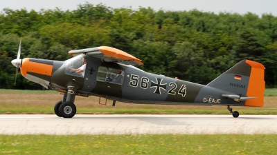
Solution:
<path fill-rule="evenodd" d="M 21 41 L 15 65 L 26 79 L 63 94 L 54 106 L 59 117 L 72 118 L 76 113 L 75 96 L 99 96 L 113 101 L 167 105 L 224 105 L 262 107 L 265 92 L 265 67 L 242 60 L 207 85 L 152 74 L 134 67 L 140 59 L 107 46 L 71 50 L 66 61 L 20 58 Z M 105 103 L 105 104 L 106 104 Z"/>

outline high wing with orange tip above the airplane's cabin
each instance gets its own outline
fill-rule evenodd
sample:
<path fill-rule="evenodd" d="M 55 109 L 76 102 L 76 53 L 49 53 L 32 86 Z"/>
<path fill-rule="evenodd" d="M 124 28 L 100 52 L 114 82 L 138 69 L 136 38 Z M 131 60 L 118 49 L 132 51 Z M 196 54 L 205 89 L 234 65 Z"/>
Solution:
<path fill-rule="evenodd" d="M 101 59 L 102 61 L 107 62 L 123 63 L 125 65 L 143 65 L 140 59 L 137 59 L 131 54 L 127 54 L 122 50 L 118 50 L 116 48 L 111 48 L 108 46 L 69 51 L 69 54 L 71 54 L 71 56 L 77 56 L 82 53 L 86 54 L 87 56 L 92 56 L 94 58 Z"/>

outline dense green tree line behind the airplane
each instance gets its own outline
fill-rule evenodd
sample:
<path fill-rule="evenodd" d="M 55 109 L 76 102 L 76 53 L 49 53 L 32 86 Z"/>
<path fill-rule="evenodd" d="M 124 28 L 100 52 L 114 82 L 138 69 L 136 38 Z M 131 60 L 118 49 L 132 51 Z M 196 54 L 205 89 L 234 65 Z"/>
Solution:
<path fill-rule="evenodd" d="M 265 65 L 267 87 L 277 81 L 277 17 L 272 14 L 155 11 L 80 4 L 76 10 L 0 13 L 0 88 L 42 89 L 17 76 L 10 63 L 19 41 L 25 57 L 64 61 L 69 50 L 107 45 L 143 60 L 146 72 L 207 84 L 242 59 Z"/>

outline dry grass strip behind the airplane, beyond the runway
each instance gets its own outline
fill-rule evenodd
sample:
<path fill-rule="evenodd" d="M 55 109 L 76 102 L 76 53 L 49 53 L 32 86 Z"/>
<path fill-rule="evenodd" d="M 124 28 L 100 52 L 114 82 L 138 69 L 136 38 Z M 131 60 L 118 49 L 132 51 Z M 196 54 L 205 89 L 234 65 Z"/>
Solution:
<path fill-rule="evenodd" d="M 277 89 L 265 90 L 264 107 L 233 107 L 240 114 L 277 114 Z M 99 105 L 98 97 L 76 96 L 77 114 L 229 114 L 225 106 L 139 105 L 112 101 Z M 62 100 L 51 90 L 0 90 L 0 114 L 54 114 L 53 107 Z M 101 102 L 104 102 L 102 100 Z"/>

